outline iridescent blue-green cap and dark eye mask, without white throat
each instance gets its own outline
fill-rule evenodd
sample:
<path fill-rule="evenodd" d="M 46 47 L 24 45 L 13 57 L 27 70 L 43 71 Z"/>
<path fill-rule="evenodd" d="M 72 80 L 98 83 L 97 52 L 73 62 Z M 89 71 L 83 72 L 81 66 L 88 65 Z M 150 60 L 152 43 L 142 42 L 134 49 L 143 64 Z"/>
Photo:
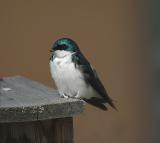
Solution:
<path fill-rule="evenodd" d="M 63 50 L 69 52 L 77 52 L 79 51 L 79 47 L 72 39 L 69 38 L 61 38 L 58 39 L 52 46 L 51 52 Z"/>

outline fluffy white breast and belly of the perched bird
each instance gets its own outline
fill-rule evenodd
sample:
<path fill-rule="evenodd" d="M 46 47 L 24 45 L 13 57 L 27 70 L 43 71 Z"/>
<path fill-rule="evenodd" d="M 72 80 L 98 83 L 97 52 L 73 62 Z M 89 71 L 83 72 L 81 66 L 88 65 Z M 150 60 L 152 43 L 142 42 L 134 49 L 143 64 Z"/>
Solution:
<path fill-rule="evenodd" d="M 50 70 L 60 94 L 75 98 L 97 96 L 93 88 L 86 85 L 82 73 L 75 68 L 72 62 L 72 53 L 64 54 L 63 52 L 59 55 L 63 56 L 58 57 L 57 54 L 53 61 L 50 61 Z"/>

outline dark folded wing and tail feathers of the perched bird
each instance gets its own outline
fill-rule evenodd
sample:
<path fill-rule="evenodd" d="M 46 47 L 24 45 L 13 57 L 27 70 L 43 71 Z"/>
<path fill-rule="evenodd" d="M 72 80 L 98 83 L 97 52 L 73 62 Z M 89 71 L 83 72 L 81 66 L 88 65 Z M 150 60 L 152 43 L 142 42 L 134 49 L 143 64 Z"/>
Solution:
<path fill-rule="evenodd" d="M 92 100 L 90 100 L 90 103 L 93 105 L 97 103 L 98 104 L 97 107 L 98 106 L 102 107 L 103 103 L 109 103 L 114 109 L 116 109 L 116 107 L 112 102 L 112 99 L 109 98 L 103 84 L 99 80 L 96 71 L 87 61 L 87 59 L 82 55 L 82 53 L 81 52 L 74 53 L 72 60 L 75 63 L 76 68 L 79 68 L 83 72 L 84 80 L 86 81 L 86 83 L 91 85 L 93 89 L 95 89 L 95 91 L 97 91 L 99 95 L 102 97 L 100 100 L 99 99 L 96 100 L 92 98 Z"/>

